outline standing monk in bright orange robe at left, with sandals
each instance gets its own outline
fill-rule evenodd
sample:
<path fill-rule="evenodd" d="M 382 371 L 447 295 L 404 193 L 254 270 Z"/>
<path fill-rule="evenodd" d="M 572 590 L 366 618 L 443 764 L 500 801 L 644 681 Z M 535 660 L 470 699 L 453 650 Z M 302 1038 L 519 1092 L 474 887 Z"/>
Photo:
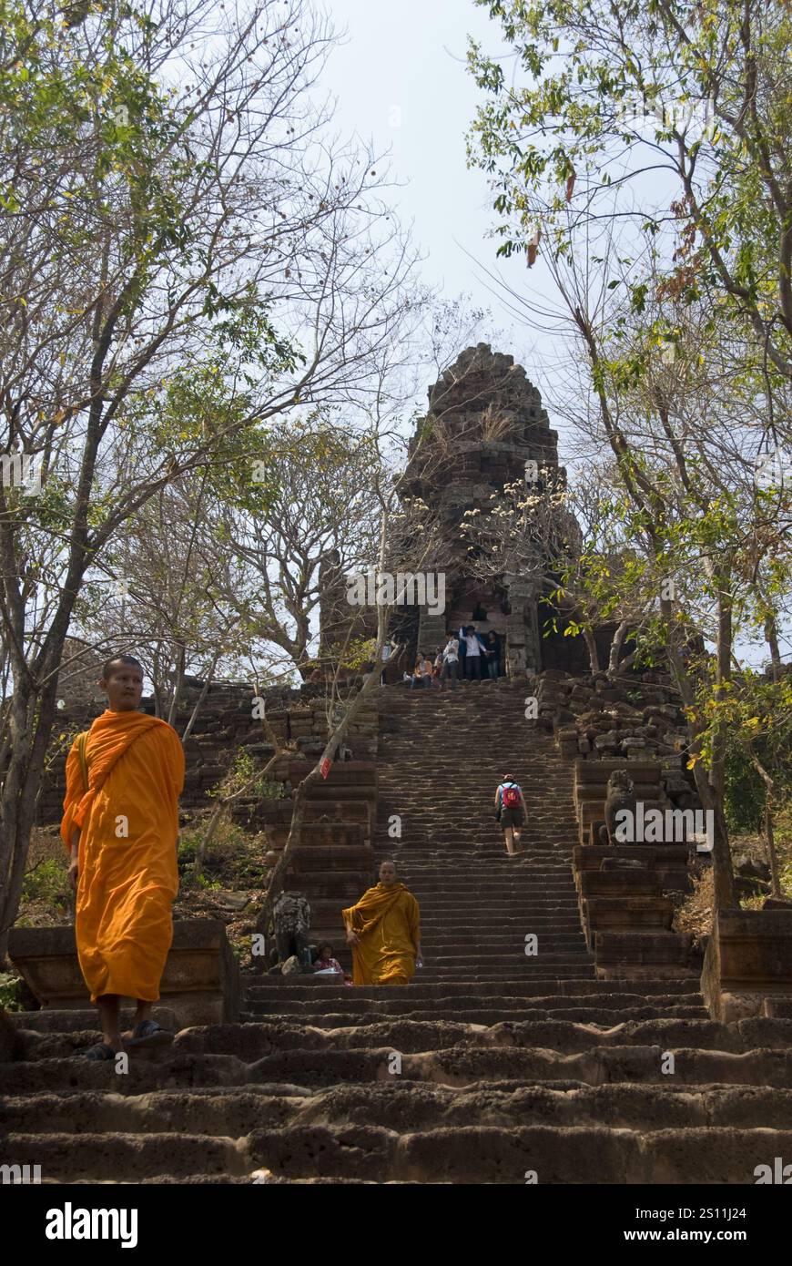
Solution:
<path fill-rule="evenodd" d="M 86 1055 L 111 1060 L 124 1048 L 121 998 L 137 1000 L 130 1044 L 170 1039 L 151 1010 L 173 936 L 185 753 L 171 725 L 138 711 L 143 668 L 137 660 L 109 660 L 100 686 L 108 709 L 91 725 L 82 752 L 76 739 L 66 761 L 61 837 L 77 894 L 80 968 L 102 1027 L 102 1042 Z"/>

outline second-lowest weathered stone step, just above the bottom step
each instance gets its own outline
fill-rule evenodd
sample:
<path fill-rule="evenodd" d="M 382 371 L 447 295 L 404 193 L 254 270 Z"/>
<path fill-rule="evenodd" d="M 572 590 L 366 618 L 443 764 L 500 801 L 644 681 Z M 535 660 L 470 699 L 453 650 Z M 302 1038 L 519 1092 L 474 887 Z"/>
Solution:
<path fill-rule="evenodd" d="M 73 1131 L 91 1134 L 180 1133 L 238 1139 L 252 1129 L 312 1123 L 348 1123 L 397 1128 L 471 1125 L 602 1125 L 611 1129 L 738 1127 L 792 1128 L 792 1091 L 755 1086 L 631 1086 L 626 1082 L 590 1086 L 572 1084 L 554 1089 L 539 1082 L 512 1087 L 495 1082 L 485 1094 L 401 1085 L 352 1085 L 329 1090 L 283 1086 L 244 1089 L 199 1087 L 163 1090 L 156 1110 L 148 1095 L 99 1091 L 71 1095 L 43 1094 L 34 1100 L 9 1098 L 4 1104 L 6 1128 L 14 1133 L 53 1134 Z M 712 1136 L 715 1141 L 717 1136 Z"/>

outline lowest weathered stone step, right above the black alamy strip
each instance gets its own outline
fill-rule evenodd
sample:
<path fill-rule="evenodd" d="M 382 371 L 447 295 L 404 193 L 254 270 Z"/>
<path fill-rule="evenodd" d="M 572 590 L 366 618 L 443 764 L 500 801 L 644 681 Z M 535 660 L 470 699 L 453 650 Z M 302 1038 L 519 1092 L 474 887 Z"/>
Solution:
<path fill-rule="evenodd" d="M 401 1127 L 404 1131 L 404 1125 Z M 748 1184 L 768 1155 L 789 1155 L 792 1131 L 455 1125 L 401 1133 L 367 1124 L 292 1125 L 244 1139 L 190 1134 L 16 1134 L 18 1163 L 39 1163 L 62 1182 L 113 1172 L 116 1181 L 196 1171 L 243 1176 L 257 1169 L 305 1177 L 382 1181 L 548 1184 Z M 39 1148 L 35 1152 L 35 1148 Z"/>

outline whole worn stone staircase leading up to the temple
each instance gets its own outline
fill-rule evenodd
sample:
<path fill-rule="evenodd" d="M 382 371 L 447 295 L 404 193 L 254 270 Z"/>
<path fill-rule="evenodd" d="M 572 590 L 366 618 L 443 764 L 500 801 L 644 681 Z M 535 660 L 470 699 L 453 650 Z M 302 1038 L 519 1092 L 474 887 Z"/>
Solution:
<path fill-rule="evenodd" d="M 0 1070 L 3 1161 L 53 1182 L 520 1185 L 750 1185 L 792 1162 L 792 1020 L 716 1023 L 688 975 L 595 979 L 571 770 L 523 694 L 380 691 L 376 852 L 421 904 L 407 989 L 259 977 L 244 1023 L 123 1076 L 73 1057 L 89 1014 L 18 1018 L 39 1043 Z M 530 819 L 514 860 L 506 771 Z"/>

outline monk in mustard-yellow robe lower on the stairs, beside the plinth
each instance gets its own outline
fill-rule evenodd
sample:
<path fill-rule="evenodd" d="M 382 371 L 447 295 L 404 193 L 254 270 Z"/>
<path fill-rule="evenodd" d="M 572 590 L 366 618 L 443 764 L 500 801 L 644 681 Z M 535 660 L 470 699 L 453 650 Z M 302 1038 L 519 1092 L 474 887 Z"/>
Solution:
<path fill-rule="evenodd" d="M 423 966 L 419 905 L 396 879 L 395 862 L 382 862 L 380 882 L 342 918 L 354 985 L 406 985 Z"/>

